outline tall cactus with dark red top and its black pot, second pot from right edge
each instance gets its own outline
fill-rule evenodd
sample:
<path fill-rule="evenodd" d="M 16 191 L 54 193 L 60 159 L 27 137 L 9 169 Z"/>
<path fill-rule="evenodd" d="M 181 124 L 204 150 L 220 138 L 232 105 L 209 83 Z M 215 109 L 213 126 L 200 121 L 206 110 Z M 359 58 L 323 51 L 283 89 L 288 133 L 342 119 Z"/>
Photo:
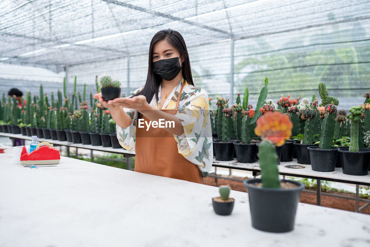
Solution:
<path fill-rule="evenodd" d="M 335 118 L 337 107 L 334 104 L 325 106 L 326 115 L 322 123 L 319 147 L 307 147 L 310 152 L 311 169 L 313 171 L 334 171 L 337 160 L 337 147 L 333 146 Z"/>

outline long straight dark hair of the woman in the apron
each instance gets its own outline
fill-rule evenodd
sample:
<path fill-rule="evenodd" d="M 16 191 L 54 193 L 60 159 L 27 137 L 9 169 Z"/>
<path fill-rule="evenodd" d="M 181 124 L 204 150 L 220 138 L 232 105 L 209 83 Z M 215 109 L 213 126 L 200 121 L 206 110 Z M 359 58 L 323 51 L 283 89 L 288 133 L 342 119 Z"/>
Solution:
<path fill-rule="evenodd" d="M 148 76 L 145 86 L 141 91 L 134 95 L 144 95 L 147 98 L 148 103 L 150 103 L 154 95 L 155 99 L 158 101 L 158 89 L 162 82 L 162 78 L 153 72 L 153 47 L 155 43 L 161 40 L 168 41 L 168 43 L 174 46 L 184 57 L 184 62 L 182 63 L 182 77 L 184 77 L 190 85 L 194 86 L 193 77 L 191 76 L 188 49 L 186 49 L 184 38 L 178 31 L 174 31 L 172 29 L 161 30 L 153 36 L 152 41 L 150 42 Z M 141 118 L 141 113 L 138 113 L 138 118 Z"/>

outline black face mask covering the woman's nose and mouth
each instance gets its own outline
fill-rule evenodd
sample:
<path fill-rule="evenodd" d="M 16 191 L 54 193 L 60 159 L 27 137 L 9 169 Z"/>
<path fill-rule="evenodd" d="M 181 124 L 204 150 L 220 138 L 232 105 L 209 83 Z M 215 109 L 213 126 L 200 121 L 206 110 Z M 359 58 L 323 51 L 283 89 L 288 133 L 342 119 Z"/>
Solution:
<path fill-rule="evenodd" d="M 171 81 L 179 74 L 182 66 L 179 63 L 179 57 L 162 59 L 153 63 L 153 71 L 166 81 Z"/>

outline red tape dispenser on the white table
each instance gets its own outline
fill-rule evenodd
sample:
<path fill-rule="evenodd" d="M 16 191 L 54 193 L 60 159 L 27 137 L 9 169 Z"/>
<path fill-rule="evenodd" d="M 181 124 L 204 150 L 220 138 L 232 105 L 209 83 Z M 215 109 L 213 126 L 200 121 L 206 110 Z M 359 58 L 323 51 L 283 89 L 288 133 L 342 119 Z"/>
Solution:
<path fill-rule="evenodd" d="M 60 153 L 50 143 L 38 144 L 31 153 L 27 153 L 26 147 L 23 146 L 20 161 L 21 165 L 59 164 Z"/>

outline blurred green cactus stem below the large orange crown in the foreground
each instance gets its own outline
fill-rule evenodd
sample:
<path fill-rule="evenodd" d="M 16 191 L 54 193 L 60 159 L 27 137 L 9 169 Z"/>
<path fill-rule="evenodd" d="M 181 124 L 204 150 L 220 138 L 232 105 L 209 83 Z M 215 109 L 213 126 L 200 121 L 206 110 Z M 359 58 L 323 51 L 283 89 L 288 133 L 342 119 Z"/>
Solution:
<path fill-rule="evenodd" d="M 258 146 L 258 157 L 262 173 L 262 187 L 280 188 L 275 146 L 269 141 L 262 141 Z"/>

